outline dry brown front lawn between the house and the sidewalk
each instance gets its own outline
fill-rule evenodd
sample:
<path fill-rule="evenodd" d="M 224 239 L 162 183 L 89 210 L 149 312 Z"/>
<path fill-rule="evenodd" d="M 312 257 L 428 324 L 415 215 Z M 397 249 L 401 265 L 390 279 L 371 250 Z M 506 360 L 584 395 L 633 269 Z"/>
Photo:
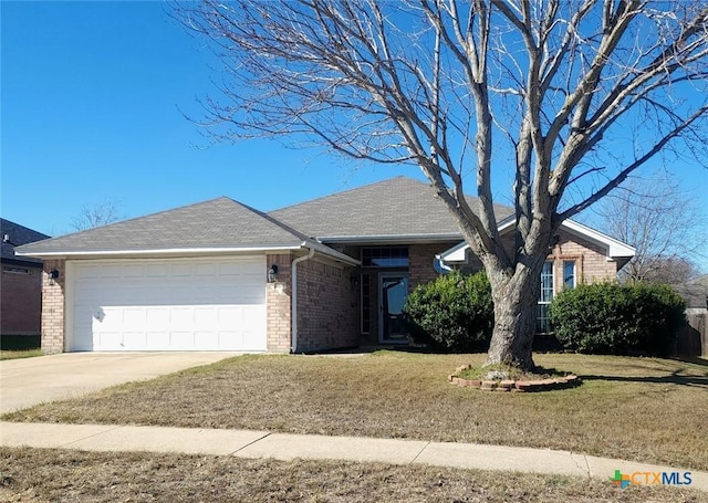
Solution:
<path fill-rule="evenodd" d="M 246 356 L 6 418 L 412 438 L 562 449 L 708 469 L 708 366 L 537 355 L 574 389 L 482 392 L 446 376 L 482 355 Z"/>

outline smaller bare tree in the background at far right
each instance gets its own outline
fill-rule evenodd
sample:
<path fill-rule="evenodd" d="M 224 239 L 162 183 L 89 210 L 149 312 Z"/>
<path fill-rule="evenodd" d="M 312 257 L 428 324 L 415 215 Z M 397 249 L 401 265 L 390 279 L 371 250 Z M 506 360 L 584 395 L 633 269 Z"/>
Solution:
<path fill-rule="evenodd" d="M 607 232 L 636 249 L 624 279 L 676 284 L 699 273 L 694 261 L 706 252 L 706 218 L 670 175 L 631 180 L 596 212 Z"/>

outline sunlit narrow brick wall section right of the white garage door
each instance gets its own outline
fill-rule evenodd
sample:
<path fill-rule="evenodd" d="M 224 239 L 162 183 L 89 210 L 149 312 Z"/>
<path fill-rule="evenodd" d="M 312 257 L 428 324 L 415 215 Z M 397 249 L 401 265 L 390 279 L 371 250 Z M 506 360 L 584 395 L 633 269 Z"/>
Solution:
<path fill-rule="evenodd" d="M 277 283 L 266 285 L 266 311 L 267 311 L 267 337 L 268 350 L 274 353 L 290 352 L 292 323 L 291 323 L 291 254 L 267 255 L 267 274 L 271 265 L 278 265 Z"/>

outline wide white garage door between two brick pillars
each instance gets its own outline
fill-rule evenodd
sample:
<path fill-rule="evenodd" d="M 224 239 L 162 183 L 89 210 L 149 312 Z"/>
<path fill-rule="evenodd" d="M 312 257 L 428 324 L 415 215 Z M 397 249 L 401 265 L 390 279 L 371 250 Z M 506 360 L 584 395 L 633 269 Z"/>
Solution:
<path fill-rule="evenodd" d="M 76 261 L 73 350 L 266 350 L 266 258 Z"/>

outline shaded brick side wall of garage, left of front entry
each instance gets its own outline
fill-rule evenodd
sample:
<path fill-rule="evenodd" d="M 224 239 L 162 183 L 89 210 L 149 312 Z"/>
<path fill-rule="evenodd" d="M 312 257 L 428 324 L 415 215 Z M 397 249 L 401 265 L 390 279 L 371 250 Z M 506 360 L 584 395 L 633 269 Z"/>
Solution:
<path fill-rule="evenodd" d="M 358 287 L 354 269 L 316 259 L 298 265 L 298 350 L 358 346 Z"/>

